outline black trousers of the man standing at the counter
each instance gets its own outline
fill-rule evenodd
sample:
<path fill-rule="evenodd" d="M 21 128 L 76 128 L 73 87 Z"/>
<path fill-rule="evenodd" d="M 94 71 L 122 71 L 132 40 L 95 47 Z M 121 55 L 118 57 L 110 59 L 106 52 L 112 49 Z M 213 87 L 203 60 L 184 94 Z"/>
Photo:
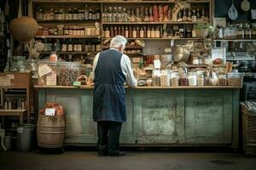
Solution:
<path fill-rule="evenodd" d="M 98 152 L 102 154 L 119 153 L 119 136 L 122 122 L 100 121 L 97 122 Z"/>

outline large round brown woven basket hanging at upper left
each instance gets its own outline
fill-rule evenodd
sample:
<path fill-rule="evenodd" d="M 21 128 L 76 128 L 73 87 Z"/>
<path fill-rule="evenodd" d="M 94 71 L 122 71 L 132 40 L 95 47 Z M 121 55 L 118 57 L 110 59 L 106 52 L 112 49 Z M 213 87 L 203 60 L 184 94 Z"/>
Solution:
<path fill-rule="evenodd" d="M 32 17 L 20 17 L 10 22 L 10 31 L 16 40 L 29 42 L 38 31 L 38 22 Z"/>

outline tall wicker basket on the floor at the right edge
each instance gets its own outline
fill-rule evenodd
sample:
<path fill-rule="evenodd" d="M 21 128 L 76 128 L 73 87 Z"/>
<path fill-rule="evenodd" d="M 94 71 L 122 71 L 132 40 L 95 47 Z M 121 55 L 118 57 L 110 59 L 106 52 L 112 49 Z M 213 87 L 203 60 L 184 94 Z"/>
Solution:
<path fill-rule="evenodd" d="M 247 110 L 241 104 L 242 112 L 242 145 L 246 156 L 256 156 L 256 113 Z"/>

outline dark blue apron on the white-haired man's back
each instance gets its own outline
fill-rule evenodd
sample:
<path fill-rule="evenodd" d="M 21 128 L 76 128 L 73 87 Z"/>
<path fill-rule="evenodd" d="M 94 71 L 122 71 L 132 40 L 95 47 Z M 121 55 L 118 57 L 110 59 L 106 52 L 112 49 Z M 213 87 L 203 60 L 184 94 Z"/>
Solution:
<path fill-rule="evenodd" d="M 103 51 L 95 70 L 93 91 L 93 119 L 125 122 L 125 75 L 120 60 L 122 54 L 114 49 Z"/>

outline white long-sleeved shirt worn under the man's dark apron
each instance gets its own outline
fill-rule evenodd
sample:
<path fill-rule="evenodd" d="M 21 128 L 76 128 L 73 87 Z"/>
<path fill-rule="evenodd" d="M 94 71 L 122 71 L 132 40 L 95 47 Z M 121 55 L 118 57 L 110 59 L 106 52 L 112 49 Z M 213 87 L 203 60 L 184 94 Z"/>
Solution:
<path fill-rule="evenodd" d="M 114 49 L 114 48 L 111 48 L 111 49 Z M 114 50 L 116 50 L 116 49 L 114 49 Z M 93 60 L 92 79 L 94 79 L 96 65 L 98 63 L 99 56 L 100 56 L 99 53 L 96 54 L 96 56 Z M 125 75 L 127 84 L 130 87 L 135 88 L 137 86 L 137 80 L 134 77 L 133 71 L 131 69 L 131 60 L 129 59 L 129 57 L 126 54 L 122 55 L 122 57 L 120 59 L 120 65 L 121 65 L 121 70 L 122 70 L 123 74 Z"/>

